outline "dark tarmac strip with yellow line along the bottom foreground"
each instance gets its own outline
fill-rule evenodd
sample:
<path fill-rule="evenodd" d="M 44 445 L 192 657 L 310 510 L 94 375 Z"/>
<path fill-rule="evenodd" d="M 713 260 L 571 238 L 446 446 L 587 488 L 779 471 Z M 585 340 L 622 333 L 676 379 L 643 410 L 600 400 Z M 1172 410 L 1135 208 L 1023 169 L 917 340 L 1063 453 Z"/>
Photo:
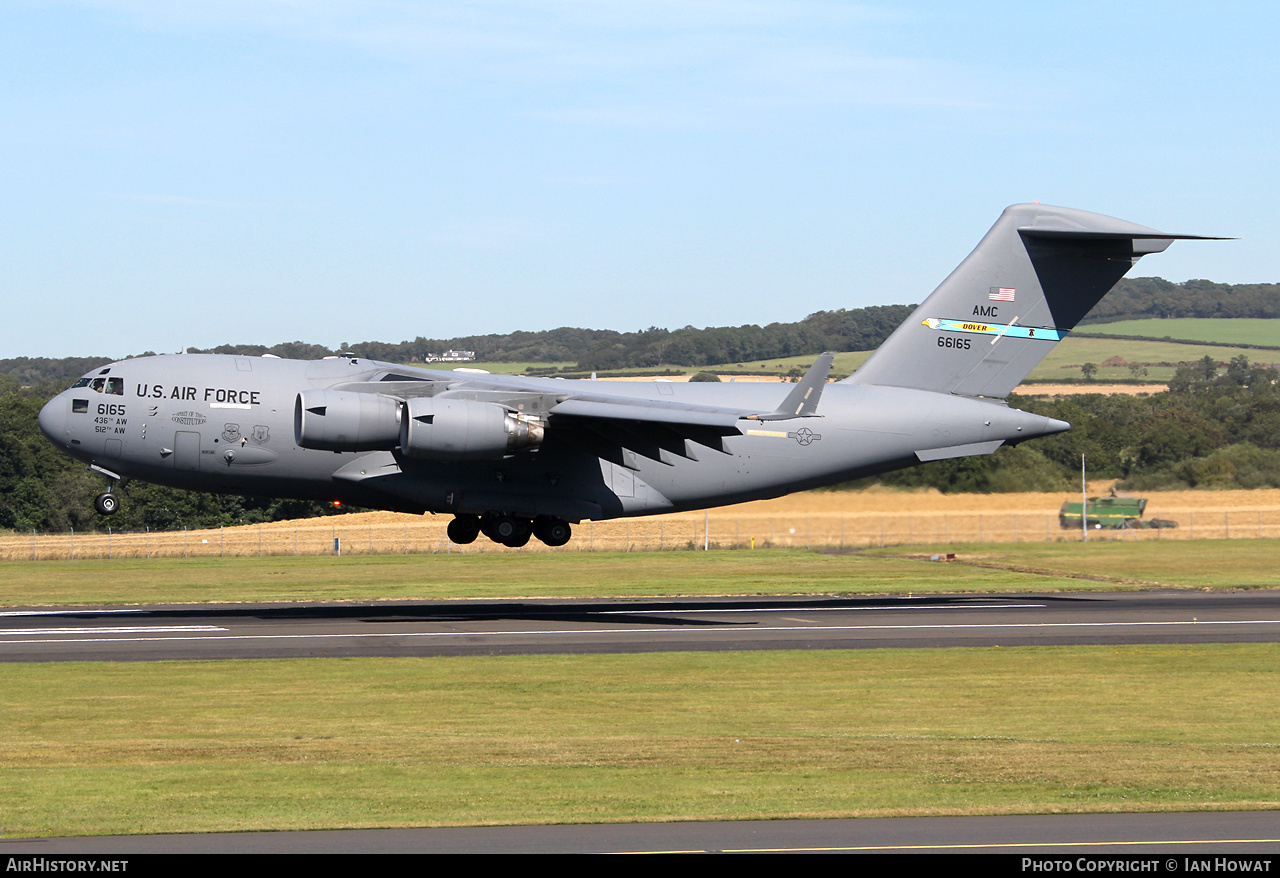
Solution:
<path fill-rule="evenodd" d="M 166 864 L 165 855 L 201 854 L 986 854 L 987 865 L 1023 874 L 1275 874 L 1280 869 L 1280 814 L 1055 814 L 0 840 L 0 861 L 141 855 L 125 869 L 132 874 Z"/>

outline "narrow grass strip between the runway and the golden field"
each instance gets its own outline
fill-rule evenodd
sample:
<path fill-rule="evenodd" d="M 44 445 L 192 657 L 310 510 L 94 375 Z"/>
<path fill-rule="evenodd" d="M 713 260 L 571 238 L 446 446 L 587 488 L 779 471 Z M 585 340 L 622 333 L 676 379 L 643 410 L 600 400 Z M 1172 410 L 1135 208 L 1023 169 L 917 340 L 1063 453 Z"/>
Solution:
<path fill-rule="evenodd" d="M 1277 540 L 1094 541 L 800 549 L 23 561 L 0 605 L 238 600 L 925 594 L 1280 587 Z M 954 552 L 955 563 L 933 553 Z"/>

